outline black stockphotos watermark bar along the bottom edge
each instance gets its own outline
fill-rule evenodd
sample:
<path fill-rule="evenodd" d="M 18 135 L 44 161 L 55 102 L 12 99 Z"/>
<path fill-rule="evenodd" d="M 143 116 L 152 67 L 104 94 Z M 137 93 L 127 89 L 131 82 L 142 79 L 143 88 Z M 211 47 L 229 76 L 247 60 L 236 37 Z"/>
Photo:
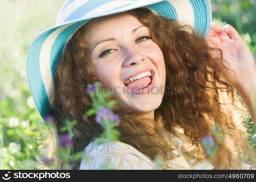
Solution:
<path fill-rule="evenodd" d="M 102 174 L 102 175 L 101 175 Z M 236 181 L 255 181 L 256 170 L 0 170 L 0 181 L 88 181 L 108 178 L 116 181 L 118 176 L 135 180 L 144 176 L 152 179 L 172 181 L 200 181 L 228 179 Z M 118 180 L 120 181 L 120 180 Z"/>

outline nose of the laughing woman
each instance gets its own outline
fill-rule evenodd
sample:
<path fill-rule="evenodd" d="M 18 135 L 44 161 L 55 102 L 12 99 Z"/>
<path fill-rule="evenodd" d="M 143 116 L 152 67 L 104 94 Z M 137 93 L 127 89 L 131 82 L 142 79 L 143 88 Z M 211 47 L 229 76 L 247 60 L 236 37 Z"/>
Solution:
<path fill-rule="evenodd" d="M 136 50 L 136 48 L 126 48 L 124 55 L 123 66 L 125 67 L 139 65 L 146 60 L 146 56 L 140 50 Z"/>

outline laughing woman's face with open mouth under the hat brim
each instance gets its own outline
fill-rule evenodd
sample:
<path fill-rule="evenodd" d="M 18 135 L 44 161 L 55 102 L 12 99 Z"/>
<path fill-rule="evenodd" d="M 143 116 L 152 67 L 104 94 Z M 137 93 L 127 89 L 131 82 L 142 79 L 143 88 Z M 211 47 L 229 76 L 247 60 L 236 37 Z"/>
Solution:
<path fill-rule="evenodd" d="M 118 13 L 90 20 L 87 33 L 96 75 L 104 87 L 111 87 L 118 104 L 141 113 L 158 108 L 165 87 L 165 63 L 149 29 L 136 17 Z"/>

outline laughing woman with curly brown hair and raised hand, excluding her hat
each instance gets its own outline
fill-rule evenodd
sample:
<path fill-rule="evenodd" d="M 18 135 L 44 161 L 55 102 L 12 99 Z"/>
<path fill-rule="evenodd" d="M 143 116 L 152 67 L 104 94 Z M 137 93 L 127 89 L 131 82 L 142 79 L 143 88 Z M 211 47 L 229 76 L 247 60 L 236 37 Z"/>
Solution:
<path fill-rule="evenodd" d="M 177 2 L 168 1 L 174 7 Z M 70 3 L 67 1 L 63 9 Z M 115 169 L 153 169 L 157 156 L 165 162 L 163 169 L 249 168 L 239 152 L 246 162 L 255 164 L 246 128 L 234 108 L 243 109 L 232 85 L 253 116 L 249 81 L 256 68 L 236 30 L 230 25 L 222 29 L 212 24 L 208 44 L 198 27 L 159 16 L 152 7 L 136 8 L 80 24 L 66 41 L 61 61 L 53 70 L 54 94 L 48 94 L 46 87 L 59 134 L 65 118 L 78 121 L 75 130 L 81 134 L 75 138 L 73 153 L 86 147 L 91 161 L 77 161 L 74 169 L 100 169 L 108 163 Z M 59 21 L 69 20 L 69 16 L 60 13 Z M 207 35 L 207 30 L 203 33 Z M 58 44 L 56 40 L 53 44 Z M 117 142 L 94 143 L 102 127 L 94 117 L 86 116 L 91 99 L 87 94 L 73 93 L 95 81 L 116 88 L 114 112 L 121 119 Z M 170 94 L 168 86 L 181 87 L 181 93 Z M 122 88 L 131 92 L 122 93 Z M 202 138 L 211 135 L 217 123 L 228 134 L 218 141 L 219 150 L 211 164 Z"/>

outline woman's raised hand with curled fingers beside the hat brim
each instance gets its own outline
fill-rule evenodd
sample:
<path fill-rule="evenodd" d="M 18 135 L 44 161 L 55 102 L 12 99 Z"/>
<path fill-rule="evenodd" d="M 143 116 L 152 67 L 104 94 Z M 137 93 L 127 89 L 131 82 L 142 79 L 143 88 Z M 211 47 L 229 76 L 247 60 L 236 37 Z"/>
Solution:
<path fill-rule="evenodd" d="M 217 23 L 211 23 L 208 41 L 210 46 L 222 50 L 223 64 L 230 70 L 221 66 L 220 70 L 230 84 L 235 87 L 241 86 L 246 80 L 256 76 L 252 53 L 234 27 L 227 24 L 221 28 Z"/>

